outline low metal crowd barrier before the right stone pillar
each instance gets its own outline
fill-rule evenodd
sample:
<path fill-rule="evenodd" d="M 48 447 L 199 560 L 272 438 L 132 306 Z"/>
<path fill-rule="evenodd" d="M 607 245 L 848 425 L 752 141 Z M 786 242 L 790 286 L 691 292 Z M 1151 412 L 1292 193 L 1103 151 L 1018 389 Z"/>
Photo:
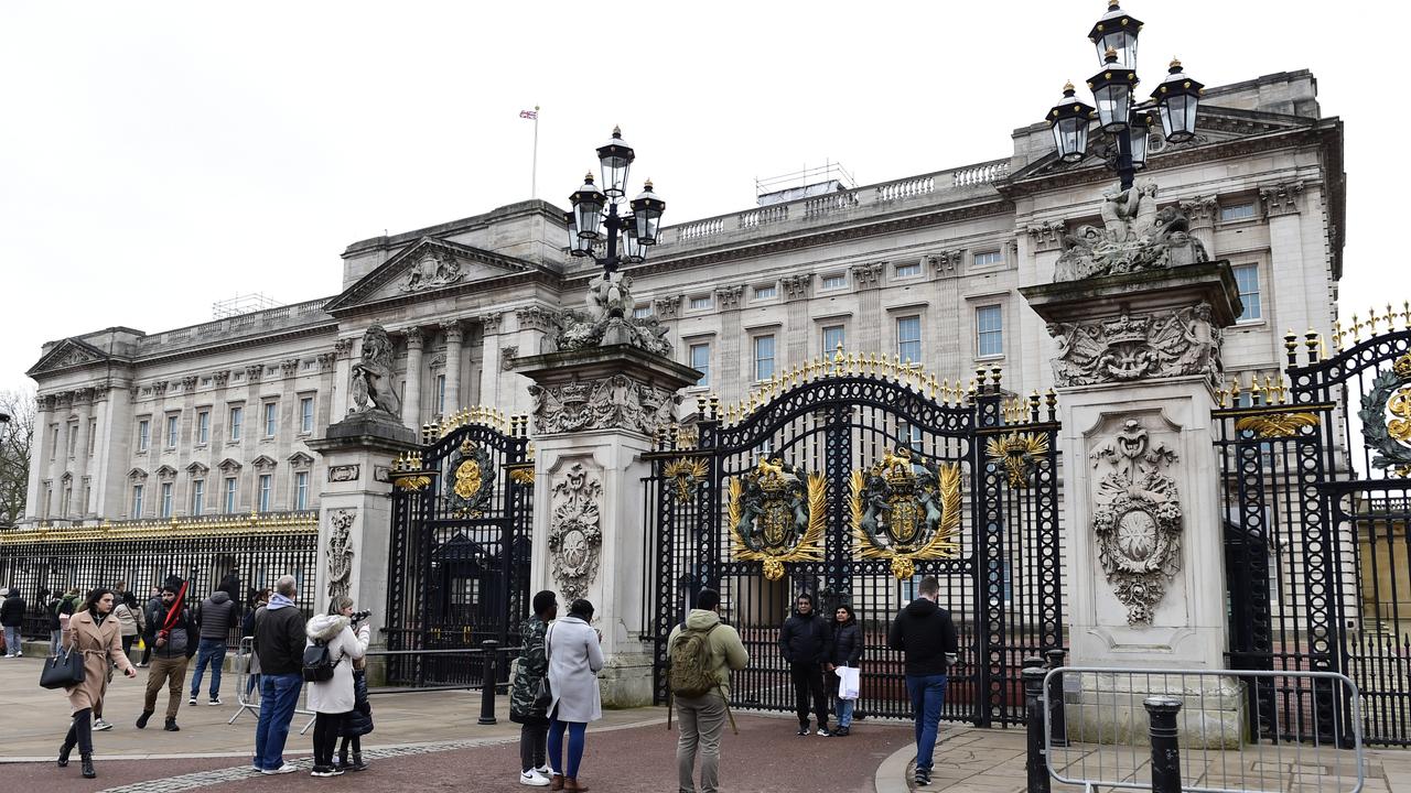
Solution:
<path fill-rule="evenodd" d="M 1089 793 L 1359 793 L 1366 782 L 1362 694 L 1335 672 L 1034 665 L 1024 693 L 1030 793 L 1051 782 Z"/>

